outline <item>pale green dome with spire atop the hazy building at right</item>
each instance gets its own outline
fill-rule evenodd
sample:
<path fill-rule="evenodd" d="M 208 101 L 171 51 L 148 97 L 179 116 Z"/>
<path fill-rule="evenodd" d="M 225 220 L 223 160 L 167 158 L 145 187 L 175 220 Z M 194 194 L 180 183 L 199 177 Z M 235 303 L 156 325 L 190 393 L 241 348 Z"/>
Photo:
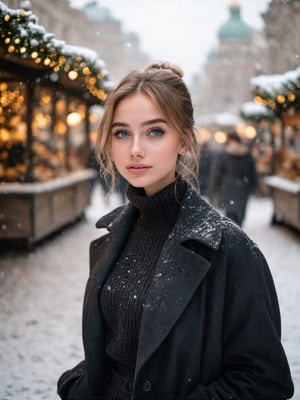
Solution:
<path fill-rule="evenodd" d="M 230 6 L 230 18 L 220 28 L 219 39 L 248 39 L 252 36 L 253 29 L 241 19 L 241 9 L 239 4 L 234 3 Z"/>

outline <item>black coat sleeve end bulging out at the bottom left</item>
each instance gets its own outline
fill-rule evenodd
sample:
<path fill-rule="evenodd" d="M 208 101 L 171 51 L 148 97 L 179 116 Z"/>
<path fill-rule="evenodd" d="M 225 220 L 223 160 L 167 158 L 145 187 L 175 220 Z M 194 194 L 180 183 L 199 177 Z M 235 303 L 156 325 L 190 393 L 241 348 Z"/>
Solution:
<path fill-rule="evenodd" d="M 57 393 L 62 400 L 87 399 L 88 386 L 85 361 L 65 371 L 57 382 Z"/>

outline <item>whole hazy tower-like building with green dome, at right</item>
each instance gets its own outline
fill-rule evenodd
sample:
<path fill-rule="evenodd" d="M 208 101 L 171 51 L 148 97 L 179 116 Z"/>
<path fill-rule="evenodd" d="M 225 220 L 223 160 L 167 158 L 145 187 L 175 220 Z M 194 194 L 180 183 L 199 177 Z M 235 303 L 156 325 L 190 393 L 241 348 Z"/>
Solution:
<path fill-rule="evenodd" d="M 218 31 L 218 45 L 204 66 L 199 110 L 206 120 L 225 112 L 238 116 L 241 105 L 251 99 L 249 79 L 260 71 L 257 38 L 243 21 L 240 5 L 232 2 L 228 20 Z"/>

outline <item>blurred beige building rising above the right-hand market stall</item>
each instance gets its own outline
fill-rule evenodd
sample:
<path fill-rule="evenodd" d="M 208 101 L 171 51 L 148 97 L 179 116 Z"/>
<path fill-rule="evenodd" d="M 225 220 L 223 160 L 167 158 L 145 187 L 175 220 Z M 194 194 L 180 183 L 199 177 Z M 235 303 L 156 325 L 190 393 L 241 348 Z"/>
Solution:
<path fill-rule="evenodd" d="M 300 1 L 271 0 L 262 14 L 266 48 L 263 73 L 278 74 L 299 66 Z"/>

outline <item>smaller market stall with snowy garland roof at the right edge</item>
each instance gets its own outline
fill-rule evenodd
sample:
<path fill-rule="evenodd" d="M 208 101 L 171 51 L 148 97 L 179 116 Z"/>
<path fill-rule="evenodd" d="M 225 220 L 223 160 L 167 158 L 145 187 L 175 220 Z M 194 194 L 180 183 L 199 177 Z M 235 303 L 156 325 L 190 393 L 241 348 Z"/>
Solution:
<path fill-rule="evenodd" d="M 272 176 L 265 179 L 274 204 L 272 222 L 300 230 L 300 68 L 254 77 L 250 83 L 255 102 L 273 112 L 279 127 Z"/>

